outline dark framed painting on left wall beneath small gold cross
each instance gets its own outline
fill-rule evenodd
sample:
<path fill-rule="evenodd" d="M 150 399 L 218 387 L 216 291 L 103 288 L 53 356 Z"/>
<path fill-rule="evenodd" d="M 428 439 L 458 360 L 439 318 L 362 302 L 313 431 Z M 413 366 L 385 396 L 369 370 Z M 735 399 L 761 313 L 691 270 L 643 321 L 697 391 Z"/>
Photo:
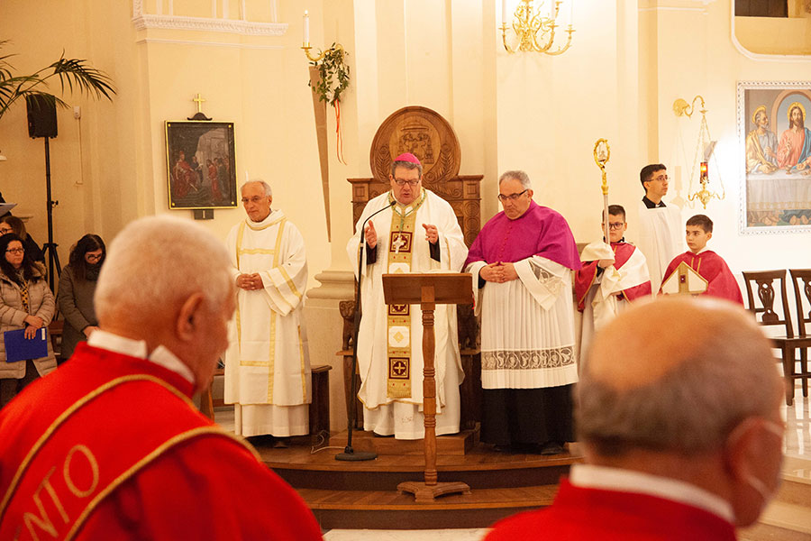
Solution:
<path fill-rule="evenodd" d="M 233 123 L 166 122 L 169 208 L 237 206 Z"/>

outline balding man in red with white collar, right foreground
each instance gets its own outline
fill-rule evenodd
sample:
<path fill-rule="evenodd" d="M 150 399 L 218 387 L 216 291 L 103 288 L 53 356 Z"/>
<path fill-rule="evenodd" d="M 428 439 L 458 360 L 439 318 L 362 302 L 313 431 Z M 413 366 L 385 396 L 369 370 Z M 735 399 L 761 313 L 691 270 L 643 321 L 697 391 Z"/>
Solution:
<path fill-rule="evenodd" d="M 720 299 L 632 307 L 595 339 L 577 390 L 586 464 L 501 539 L 735 539 L 779 484 L 782 385 L 770 344 Z"/>

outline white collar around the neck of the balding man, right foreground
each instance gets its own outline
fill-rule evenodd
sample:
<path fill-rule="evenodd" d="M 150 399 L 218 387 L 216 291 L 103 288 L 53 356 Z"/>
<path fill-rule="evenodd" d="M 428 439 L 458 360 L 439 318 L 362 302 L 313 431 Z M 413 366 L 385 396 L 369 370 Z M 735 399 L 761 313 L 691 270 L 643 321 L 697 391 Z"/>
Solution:
<path fill-rule="evenodd" d="M 678 501 L 704 509 L 727 522 L 734 521 L 732 505 L 728 501 L 685 481 L 594 464 L 572 466 L 569 481 L 583 489 L 635 492 Z"/>

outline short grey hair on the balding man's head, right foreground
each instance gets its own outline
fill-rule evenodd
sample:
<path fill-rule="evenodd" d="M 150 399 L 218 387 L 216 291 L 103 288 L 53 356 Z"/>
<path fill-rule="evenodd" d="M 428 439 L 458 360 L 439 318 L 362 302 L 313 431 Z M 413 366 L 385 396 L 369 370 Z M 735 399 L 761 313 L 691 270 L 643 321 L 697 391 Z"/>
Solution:
<path fill-rule="evenodd" d="M 697 344 L 675 353 L 684 355 L 683 362 L 631 389 L 593 376 L 592 348 L 576 391 L 579 439 L 604 456 L 633 448 L 697 454 L 723 445 L 743 419 L 773 415 L 777 385 L 770 384 L 779 378 L 769 343 L 753 323 L 739 324 L 742 318 L 732 318 L 737 328 L 731 329 L 716 320 Z M 655 355 L 649 362 L 657 362 Z"/>

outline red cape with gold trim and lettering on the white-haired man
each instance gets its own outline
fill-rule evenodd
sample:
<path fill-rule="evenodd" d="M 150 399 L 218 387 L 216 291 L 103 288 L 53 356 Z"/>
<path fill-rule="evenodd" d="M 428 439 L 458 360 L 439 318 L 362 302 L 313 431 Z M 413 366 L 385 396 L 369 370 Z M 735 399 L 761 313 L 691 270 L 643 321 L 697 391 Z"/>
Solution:
<path fill-rule="evenodd" d="M 153 362 L 79 344 L 0 411 L 0 539 L 321 539 L 296 491 L 191 393 Z"/>

